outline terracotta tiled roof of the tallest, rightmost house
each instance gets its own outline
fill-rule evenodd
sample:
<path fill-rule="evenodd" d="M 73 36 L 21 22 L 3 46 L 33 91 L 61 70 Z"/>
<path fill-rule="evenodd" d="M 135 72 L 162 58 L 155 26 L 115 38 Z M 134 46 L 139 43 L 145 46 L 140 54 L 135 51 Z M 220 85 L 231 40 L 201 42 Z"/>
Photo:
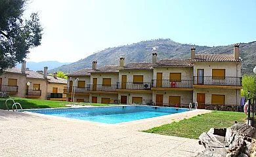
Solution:
<path fill-rule="evenodd" d="M 196 58 L 192 61 L 241 61 L 234 60 L 233 54 L 196 54 Z"/>

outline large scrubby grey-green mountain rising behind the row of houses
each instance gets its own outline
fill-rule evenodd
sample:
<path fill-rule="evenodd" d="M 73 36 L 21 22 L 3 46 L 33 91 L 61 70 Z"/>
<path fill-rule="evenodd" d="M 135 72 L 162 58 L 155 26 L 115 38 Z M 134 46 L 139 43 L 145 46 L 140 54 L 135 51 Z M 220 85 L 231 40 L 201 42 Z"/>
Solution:
<path fill-rule="evenodd" d="M 253 67 L 256 65 L 256 43 L 251 42 L 247 46 L 242 47 L 247 43 L 240 43 L 240 56 L 243 59 L 242 72 L 252 73 Z M 194 44 L 181 44 L 172 41 L 171 39 L 155 39 L 150 41 L 141 41 L 139 43 L 117 46 L 114 48 L 106 48 L 100 52 L 96 52 L 87 58 L 62 65 L 50 72 L 64 71 L 72 73 L 85 67 L 91 67 L 92 61 L 97 60 L 97 67 L 104 65 L 119 65 L 119 57 L 125 57 L 125 63 L 130 62 L 149 62 L 152 61 L 152 47 L 156 46 L 158 50 L 158 60 L 172 58 L 190 58 L 190 47 L 196 47 L 196 54 L 224 54 L 233 53 L 232 44 L 227 46 L 199 46 Z M 227 52 L 226 52 L 227 51 Z"/>

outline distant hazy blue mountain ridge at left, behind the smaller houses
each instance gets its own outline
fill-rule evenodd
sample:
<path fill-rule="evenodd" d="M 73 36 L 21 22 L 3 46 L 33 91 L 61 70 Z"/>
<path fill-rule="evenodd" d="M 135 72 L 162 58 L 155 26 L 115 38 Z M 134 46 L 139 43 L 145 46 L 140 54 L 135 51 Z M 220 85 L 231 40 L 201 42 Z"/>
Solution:
<path fill-rule="evenodd" d="M 30 70 L 37 71 L 37 70 L 43 70 L 43 67 L 47 66 L 48 69 L 51 70 L 67 64 L 70 64 L 70 62 L 60 63 L 58 61 L 41 61 L 41 62 L 27 61 L 26 67 L 28 67 Z M 21 64 L 16 65 L 16 67 L 21 69 Z"/>

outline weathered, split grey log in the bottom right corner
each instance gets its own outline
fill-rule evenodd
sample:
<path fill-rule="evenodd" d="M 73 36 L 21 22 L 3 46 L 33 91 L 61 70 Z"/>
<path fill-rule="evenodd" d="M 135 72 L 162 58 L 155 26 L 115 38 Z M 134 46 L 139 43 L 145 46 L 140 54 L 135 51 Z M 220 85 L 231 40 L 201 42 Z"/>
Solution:
<path fill-rule="evenodd" d="M 211 128 L 199 137 L 199 144 L 205 147 L 197 156 L 256 156 L 255 128 L 244 123 L 230 128 Z"/>

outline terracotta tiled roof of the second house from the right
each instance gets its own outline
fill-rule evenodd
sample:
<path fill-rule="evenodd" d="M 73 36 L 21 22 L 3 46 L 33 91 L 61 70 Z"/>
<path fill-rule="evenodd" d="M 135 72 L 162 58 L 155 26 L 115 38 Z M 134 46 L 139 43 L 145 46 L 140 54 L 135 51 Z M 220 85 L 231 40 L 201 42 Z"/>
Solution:
<path fill-rule="evenodd" d="M 156 62 L 153 67 L 192 67 L 191 59 L 164 59 Z"/>

